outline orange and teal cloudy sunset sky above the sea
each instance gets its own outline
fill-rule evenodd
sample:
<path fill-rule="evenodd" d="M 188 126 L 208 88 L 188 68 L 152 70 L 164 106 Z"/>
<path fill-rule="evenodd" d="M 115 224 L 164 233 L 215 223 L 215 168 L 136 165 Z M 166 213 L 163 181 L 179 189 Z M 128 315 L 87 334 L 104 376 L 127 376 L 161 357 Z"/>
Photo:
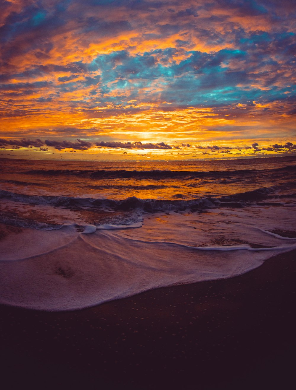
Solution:
<path fill-rule="evenodd" d="M 296 154 L 293 0 L 0 0 L 0 157 Z"/>

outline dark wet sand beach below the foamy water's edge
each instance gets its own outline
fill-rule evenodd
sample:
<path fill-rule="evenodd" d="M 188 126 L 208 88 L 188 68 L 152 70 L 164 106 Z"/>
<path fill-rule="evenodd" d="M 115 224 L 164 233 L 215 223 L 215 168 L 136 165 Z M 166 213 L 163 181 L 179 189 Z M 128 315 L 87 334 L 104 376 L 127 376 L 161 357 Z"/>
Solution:
<path fill-rule="evenodd" d="M 292 389 L 296 251 L 74 312 L 1 306 L 3 389 Z"/>

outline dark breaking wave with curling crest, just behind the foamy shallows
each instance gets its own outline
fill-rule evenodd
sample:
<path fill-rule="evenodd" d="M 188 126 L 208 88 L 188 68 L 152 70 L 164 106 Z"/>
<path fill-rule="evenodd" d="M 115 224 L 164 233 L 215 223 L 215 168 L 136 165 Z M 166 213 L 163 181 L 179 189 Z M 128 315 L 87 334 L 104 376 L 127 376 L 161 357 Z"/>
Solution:
<path fill-rule="evenodd" d="M 262 202 L 262 200 L 291 197 L 291 195 L 277 195 L 280 186 L 263 187 L 253 191 L 246 191 L 234 195 L 222 197 L 201 197 L 189 200 L 166 200 L 166 199 L 140 199 L 135 196 L 122 200 L 81 198 L 54 195 L 26 195 L 12 191 L 0 190 L 0 198 L 10 199 L 26 204 L 51 205 L 57 207 L 80 207 L 80 208 L 104 208 L 118 211 L 130 211 L 140 209 L 143 211 L 164 211 L 164 210 L 192 210 L 215 208 L 215 207 L 244 207 L 248 204 Z M 294 194 L 292 194 L 294 197 Z M 269 203 L 272 205 L 272 203 Z M 278 203 L 276 203 L 278 204 Z"/>

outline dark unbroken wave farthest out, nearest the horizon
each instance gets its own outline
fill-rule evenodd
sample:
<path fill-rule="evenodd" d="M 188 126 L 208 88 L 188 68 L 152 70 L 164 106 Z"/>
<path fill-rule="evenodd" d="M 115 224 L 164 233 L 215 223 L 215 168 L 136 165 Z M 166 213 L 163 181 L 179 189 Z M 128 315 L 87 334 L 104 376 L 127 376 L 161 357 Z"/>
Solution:
<path fill-rule="evenodd" d="M 252 176 L 260 172 L 260 174 L 273 174 L 273 173 L 292 173 L 296 172 L 296 165 L 288 165 L 282 168 L 273 169 L 244 169 L 244 170 L 230 170 L 230 171 L 172 171 L 172 170 L 43 170 L 32 169 L 27 170 L 25 174 L 43 175 L 43 176 L 78 176 L 89 177 L 93 179 L 183 179 L 190 180 L 196 178 L 210 177 L 230 177 L 239 175 L 240 177 Z"/>

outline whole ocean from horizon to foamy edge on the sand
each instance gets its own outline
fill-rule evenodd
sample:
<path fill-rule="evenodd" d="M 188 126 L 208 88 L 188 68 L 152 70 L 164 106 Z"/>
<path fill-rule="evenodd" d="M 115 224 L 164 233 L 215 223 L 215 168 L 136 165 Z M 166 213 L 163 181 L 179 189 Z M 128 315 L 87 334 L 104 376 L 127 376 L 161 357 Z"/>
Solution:
<path fill-rule="evenodd" d="M 75 310 L 296 249 L 296 156 L 0 160 L 0 303 Z"/>

